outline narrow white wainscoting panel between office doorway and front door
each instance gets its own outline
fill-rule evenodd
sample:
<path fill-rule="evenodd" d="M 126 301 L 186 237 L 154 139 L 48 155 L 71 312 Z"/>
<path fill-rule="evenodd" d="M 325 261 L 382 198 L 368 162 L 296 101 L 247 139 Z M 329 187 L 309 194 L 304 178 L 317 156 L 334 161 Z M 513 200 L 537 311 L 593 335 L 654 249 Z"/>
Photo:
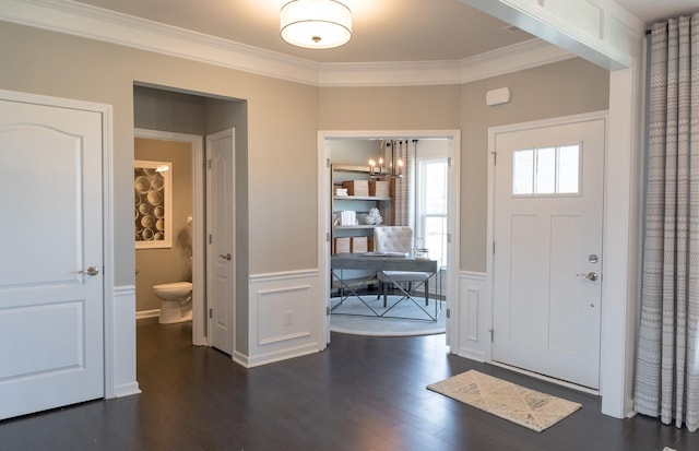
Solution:
<path fill-rule="evenodd" d="M 459 323 L 461 324 L 457 353 L 478 361 L 490 359 L 490 284 L 485 273 L 459 273 Z"/>

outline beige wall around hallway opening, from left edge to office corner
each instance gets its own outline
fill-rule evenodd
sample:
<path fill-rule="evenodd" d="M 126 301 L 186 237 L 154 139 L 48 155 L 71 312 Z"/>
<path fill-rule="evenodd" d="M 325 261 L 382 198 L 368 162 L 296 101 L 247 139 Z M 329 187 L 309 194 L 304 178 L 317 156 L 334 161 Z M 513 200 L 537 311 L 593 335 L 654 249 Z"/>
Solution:
<path fill-rule="evenodd" d="M 250 273 L 317 266 L 318 225 L 311 215 L 285 224 L 297 210 L 316 211 L 318 88 L 179 58 L 0 23 L 0 88 L 112 106 L 115 284 L 134 284 L 132 226 L 133 85 L 173 86 L 217 98 L 245 99 L 247 165 L 239 192 L 250 205 Z M 239 127 L 236 127 L 237 129 Z M 280 195 L 270 187 L 292 187 Z M 303 244 L 289 249 L 288 244 Z"/>

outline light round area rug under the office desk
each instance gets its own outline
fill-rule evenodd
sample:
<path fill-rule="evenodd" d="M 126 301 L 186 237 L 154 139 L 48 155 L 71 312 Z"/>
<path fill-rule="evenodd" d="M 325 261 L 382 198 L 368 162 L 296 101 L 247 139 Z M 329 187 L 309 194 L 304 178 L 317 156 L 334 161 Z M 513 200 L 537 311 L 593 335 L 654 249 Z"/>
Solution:
<path fill-rule="evenodd" d="M 371 308 L 384 313 L 383 298 L 376 299 L 376 295 L 363 296 L 363 299 L 371 306 Z M 388 307 L 391 307 L 400 296 L 389 296 Z M 420 301 L 429 314 L 435 316 L 435 300 L 430 299 L 429 306 L 425 306 L 424 299 L 416 298 Z M 346 333 L 352 335 L 369 335 L 369 336 L 416 336 L 416 335 L 435 335 L 445 333 L 445 311 L 438 312 L 437 321 L 431 321 L 427 313 L 412 301 L 405 299 L 399 302 L 386 317 L 378 318 L 374 316 L 371 310 L 356 297 L 346 298 L 342 305 L 340 298 L 330 300 L 332 314 L 330 316 L 330 330 L 337 333 Z M 443 301 L 440 308 L 443 307 Z"/>

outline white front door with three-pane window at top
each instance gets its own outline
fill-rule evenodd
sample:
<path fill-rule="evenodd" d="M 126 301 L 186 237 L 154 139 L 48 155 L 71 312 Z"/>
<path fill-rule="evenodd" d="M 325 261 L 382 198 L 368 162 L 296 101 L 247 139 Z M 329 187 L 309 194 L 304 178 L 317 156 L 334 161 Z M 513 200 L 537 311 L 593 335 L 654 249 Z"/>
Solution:
<path fill-rule="evenodd" d="M 603 119 L 495 134 L 493 359 L 600 387 Z"/>

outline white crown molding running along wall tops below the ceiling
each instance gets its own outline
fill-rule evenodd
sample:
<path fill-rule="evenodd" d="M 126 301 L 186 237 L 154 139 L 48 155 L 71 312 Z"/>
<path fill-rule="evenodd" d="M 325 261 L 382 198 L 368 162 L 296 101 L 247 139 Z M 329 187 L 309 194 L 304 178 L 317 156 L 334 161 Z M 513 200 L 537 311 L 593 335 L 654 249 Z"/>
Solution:
<path fill-rule="evenodd" d="M 0 20 L 315 86 L 459 84 L 573 57 L 531 39 L 457 61 L 317 63 L 71 0 L 0 0 Z"/>

